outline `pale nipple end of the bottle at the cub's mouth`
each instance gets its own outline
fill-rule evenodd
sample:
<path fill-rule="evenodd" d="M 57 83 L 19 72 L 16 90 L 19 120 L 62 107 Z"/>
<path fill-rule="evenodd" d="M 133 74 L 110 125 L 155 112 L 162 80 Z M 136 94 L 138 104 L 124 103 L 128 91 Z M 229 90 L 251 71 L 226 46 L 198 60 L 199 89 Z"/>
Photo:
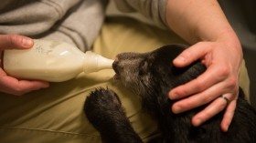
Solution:
<path fill-rule="evenodd" d="M 85 73 L 91 73 L 101 69 L 112 69 L 112 63 L 112 59 L 88 51 L 85 53 L 83 71 Z"/>

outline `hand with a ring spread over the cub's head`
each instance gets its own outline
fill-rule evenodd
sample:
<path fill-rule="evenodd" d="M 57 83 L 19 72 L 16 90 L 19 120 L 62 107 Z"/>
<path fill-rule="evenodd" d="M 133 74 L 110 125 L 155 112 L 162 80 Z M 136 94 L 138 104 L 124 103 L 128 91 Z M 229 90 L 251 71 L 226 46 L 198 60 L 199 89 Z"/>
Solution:
<path fill-rule="evenodd" d="M 241 53 L 240 44 L 199 42 L 177 56 L 174 60 L 176 66 L 188 66 L 200 59 L 207 70 L 196 79 L 169 92 L 170 99 L 185 97 L 173 105 L 173 112 L 178 114 L 209 103 L 208 107 L 192 118 L 192 124 L 197 127 L 225 109 L 220 126 L 223 131 L 228 131 L 239 94 Z M 220 98 L 221 95 L 227 97 L 229 103 Z"/>

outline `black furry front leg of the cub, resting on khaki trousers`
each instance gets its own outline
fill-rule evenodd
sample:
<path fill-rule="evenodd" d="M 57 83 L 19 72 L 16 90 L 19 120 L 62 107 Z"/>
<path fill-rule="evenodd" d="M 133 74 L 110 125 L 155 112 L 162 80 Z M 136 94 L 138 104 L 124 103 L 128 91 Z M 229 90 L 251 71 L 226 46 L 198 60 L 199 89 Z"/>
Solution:
<path fill-rule="evenodd" d="M 84 113 L 101 134 L 104 143 L 143 143 L 125 116 L 119 97 L 110 89 L 91 92 Z"/>

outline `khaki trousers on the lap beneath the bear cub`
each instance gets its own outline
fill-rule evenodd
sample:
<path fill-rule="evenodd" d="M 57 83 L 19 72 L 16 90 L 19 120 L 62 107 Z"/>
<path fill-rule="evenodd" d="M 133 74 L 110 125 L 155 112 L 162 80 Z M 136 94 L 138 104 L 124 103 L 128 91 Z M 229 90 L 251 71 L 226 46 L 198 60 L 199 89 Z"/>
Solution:
<path fill-rule="evenodd" d="M 93 51 L 114 59 L 122 52 L 147 52 L 166 44 L 184 43 L 178 36 L 130 18 L 107 18 Z M 247 77 L 246 70 L 243 72 Z M 157 136 L 155 121 L 141 109 L 139 98 L 112 79 L 112 70 L 80 76 L 15 97 L 0 94 L 0 142 L 101 142 L 83 114 L 85 98 L 96 87 L 114 90 L 133 128 L 146 141 Z M 248 86 L 248 81 L 243 82 Z"/>

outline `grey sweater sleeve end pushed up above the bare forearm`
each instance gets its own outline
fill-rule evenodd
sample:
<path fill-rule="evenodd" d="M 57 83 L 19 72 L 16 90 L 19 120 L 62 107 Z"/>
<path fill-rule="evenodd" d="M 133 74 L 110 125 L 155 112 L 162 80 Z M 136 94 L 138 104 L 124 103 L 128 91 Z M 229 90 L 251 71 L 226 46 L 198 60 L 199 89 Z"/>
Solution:
<path fill-rule="evenodd" d="M 152 19 L 157 26 L 166 26 L 165 11 L 167 0 L 114 0 L 124 13 L 140 12 Z"/>

